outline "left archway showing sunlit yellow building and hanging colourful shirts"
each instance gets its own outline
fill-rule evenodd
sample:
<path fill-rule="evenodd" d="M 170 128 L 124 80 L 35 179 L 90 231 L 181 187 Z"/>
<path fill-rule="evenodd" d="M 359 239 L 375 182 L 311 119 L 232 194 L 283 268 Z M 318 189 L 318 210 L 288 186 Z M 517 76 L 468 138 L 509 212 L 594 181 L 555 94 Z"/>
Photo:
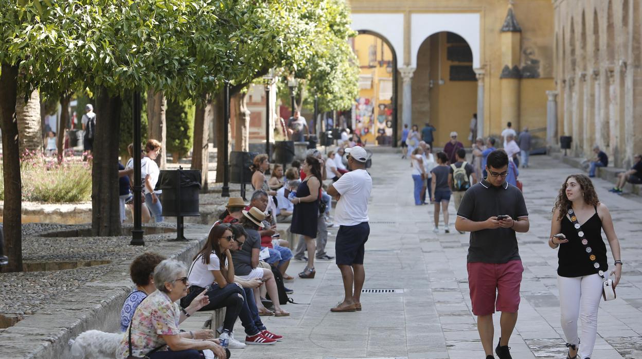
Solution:
<path fill-rule="evenodd" d="M 386 37 L 359 30 L 352 48 L 359 60 L 359 96 L 351 127 L 366 143 L 397 146 L 397 54 Z"/>

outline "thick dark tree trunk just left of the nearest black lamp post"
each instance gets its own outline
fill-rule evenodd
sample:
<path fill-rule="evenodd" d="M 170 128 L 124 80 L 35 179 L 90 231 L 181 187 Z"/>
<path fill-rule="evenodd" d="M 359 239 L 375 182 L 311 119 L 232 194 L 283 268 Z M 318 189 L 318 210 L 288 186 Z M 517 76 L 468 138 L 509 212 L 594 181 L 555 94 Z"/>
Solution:
<path fill-rule="evenodd" d="M 123 99 L 100 88 L 96 95 L 96 121 L 91 171 L 91 231 L 94 236 L 121 235 L 118 202 L 118 143 Z"/>

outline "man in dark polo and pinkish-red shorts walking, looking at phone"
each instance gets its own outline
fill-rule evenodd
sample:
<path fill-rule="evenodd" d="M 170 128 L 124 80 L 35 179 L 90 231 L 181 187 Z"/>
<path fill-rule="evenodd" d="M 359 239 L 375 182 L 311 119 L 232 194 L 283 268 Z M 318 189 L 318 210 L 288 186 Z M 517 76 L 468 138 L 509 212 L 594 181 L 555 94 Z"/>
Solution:
<path fill-rule="evenodd" d="M 488 155 L 488 177 L 469 188 L 457 212 L 455 229 L 471 232 L 467 269 L 473 314 L 487 359 L 492 359 L 492 314 L 501 311 L 499 359 L 512 359 L 508 340 L 517 322 L 524 267 L 516 232 L 528 232 L 528 211 L 521 191 L 506 182 L 508 155 Z"/>

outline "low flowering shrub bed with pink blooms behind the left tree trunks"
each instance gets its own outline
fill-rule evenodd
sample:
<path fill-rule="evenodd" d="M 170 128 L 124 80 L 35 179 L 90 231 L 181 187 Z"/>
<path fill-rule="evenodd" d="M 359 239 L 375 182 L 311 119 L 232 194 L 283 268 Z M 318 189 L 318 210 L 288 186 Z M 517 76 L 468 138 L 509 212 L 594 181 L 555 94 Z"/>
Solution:
<path fill-rule="evenodd" d="M 22 200 L 45 203 L 75 203 L 91 200 L 91 165 L 80 159 L 61 164 L 55 157 L 26 155 L 20 164 Z M 0 165 L 0 170 L 2 166 Z M 4 181 L 0 176 L 0 200 Z"/>

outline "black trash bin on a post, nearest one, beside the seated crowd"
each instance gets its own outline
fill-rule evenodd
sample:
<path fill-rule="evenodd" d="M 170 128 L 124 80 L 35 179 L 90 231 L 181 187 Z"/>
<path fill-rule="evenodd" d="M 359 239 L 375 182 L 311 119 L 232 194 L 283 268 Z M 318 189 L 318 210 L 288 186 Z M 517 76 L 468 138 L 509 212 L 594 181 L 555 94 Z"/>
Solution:
<path fill-rule="evenodd" d="M 155 189 L 162 189 L 162 215 L 176 217 L 176 240 L 186 241 L 183 217 L 200 216 L 200 170 L 183 170 L 182 166 L 178 170 L 161 170 Z"/>

